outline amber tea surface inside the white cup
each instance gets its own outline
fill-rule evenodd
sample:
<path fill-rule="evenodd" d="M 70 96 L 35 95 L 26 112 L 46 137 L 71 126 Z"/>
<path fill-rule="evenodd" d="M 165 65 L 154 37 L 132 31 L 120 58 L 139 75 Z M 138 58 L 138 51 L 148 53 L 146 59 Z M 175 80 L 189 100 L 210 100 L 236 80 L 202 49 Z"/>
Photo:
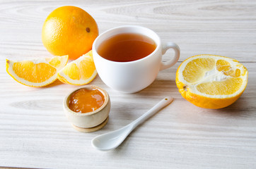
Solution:
<path fill-rule="evenodd" d="M 136 61 L 151 54 L 156 49 L 153 39 L 135 33 L 115 35 L 106 39 L 98 47 L 98 54 L 110 61 Z"/>

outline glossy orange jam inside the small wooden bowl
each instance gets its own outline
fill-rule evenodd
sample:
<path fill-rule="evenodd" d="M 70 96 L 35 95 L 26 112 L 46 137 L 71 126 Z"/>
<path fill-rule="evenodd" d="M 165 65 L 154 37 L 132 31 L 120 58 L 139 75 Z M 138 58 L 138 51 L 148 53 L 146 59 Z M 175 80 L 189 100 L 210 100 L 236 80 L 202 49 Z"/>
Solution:
<path fill-rule="evenodd" d="M 69 108 L 76 113 L 88 113 L 100 108 L 104 101 L 104 95 L 98 89 L 78 89 L 70 96 Z"/>

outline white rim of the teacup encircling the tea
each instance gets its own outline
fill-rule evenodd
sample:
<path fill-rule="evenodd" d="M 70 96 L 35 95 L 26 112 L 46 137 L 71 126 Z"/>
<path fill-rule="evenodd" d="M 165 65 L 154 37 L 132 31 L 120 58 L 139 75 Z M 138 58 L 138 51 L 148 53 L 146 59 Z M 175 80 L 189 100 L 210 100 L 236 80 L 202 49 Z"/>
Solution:
<path fill-rule="evenodd" d="M 118 62 L 118 61 L 110 61 L 106 58 L 103 58 L 102 56 L 100 56 L 100 54 L 98 54 L 98 51 L 96 50 L 96 43 L 98 42 L 98 40 L 101 38 L 101 36 L 105 35 L 106 33 L 108 32 L 112 32 L 114 30 L 118 30 L 118 29 L 124 29 L 124 28 L 127 28 L 127 27 L 132 27 L 132 28 L 139 28 L 139 29 L 144 29 L 144 30 L 149 30 L 150 32 L 152 32 L 154 35 L 156 35 L 157 39 L 153 39 L 152 37 L 149 37 L 149 35 L 145 35 L 146 37 L 149 37 L 153 40 L 153 42 L 156 43 L 156 49 L 153 50 L 151 52 L 151 54 L 149 54 L 148 56 L 145 56 L 144 58 L 140 58 L 138 60 L 135 60 L 135 61 L 127 61 L 127 62 Z M 119 33 L 115 34 L 115 35 L 118 35 Z M 104 39 L 105 40 L 105 39 Z M 104 41 L 103 40 L 103 41 Z M 156 42 L 158 41 L 158 43 Z M 149 58 L 151 56 L 153 56 L 154 54 L 156 54 L 156 52 L 160 49 L 161 47 L 161 39 L 160 37 L 156 34 L 156 32 L 154 32 L 153 30 L 149 29 L 148 27 L 143 27 L 143 26 L 139 26 L 139 25 L 123 25 L 123 26 L 118 26 L 118 27 L 112 27 L 111 29 L 109 30 L 106 30 L 105 32 L 101 33 L 98 37 L 96 37 L 96 39 L 94 40 L 93 42 L 93 51 L 97 52 L 98 56 L 100 56 L 101 59 L 105 60 L 105 61 L 109 61 L 111 63 L 119 63 L 119 64 L 129 64 L 129 63 L 136 63 L 136 62 L 140 62 L 140 61 L 144 61 L 146 58 Z"/>

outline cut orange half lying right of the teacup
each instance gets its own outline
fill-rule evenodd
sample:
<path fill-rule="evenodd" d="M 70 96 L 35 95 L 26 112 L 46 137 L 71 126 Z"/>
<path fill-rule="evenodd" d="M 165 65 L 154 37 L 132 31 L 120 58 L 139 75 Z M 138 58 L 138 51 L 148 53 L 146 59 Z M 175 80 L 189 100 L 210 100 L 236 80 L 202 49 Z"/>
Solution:
<path fill-rule="evenodd" d="M 243 94 L 247 83 L 245 66 L 223 56 L 192 56 L 180 64 L 176 73 L 180 94 L 202 108 L 233 104 Z"/>

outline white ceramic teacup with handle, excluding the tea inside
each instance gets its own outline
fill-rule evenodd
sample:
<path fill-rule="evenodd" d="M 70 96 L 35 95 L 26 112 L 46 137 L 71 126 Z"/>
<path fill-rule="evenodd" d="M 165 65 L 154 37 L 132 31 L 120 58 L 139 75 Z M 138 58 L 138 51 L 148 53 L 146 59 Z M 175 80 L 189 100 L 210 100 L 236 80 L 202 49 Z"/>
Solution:
<path fill-rule="evenodd" d="M 156 49 L 144 58 L 129 62 L 110 61 L 98 54 L 98 47 L 106 39 L 123 33 L 136 33 L 150 37 L 156 43 Z M 173 59 L 162 62 L 162 56 L 168 49 L 175 51 Z M 170 68 L 180 58 L 180 48 L 173 42 L 161 43 L 160 37 L 146 27 L 121 26 L 115 27 L 99 35 L 93 42 L 93 60 L 101 80 L 108 87 L 120 92 L 134 93 L 148 87 L 160 70 Z"/>

